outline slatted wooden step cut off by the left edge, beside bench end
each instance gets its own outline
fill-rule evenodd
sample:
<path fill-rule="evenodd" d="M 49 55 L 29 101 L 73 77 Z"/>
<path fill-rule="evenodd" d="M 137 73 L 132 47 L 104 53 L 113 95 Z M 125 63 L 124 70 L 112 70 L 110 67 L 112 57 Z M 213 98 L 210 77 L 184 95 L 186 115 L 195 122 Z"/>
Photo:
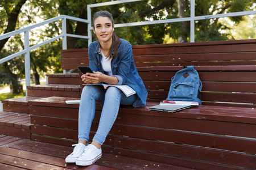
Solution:
<path fill-rule="evenodd" d="M 0 134 L 30 139 L 30 114 L 0 112 Z"/>

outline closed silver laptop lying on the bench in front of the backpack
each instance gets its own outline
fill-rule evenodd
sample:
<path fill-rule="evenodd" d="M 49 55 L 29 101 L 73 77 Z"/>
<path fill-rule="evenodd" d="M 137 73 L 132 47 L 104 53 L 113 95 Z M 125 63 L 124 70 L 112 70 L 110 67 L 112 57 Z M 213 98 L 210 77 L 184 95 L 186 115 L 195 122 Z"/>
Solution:
<path fill-rule="evenodd" d="M 188 105 L 185 105 L 185 104 L 182 104 L 182 105 L 171 105 L 171 104 L 168 104 L 168 105 L 154 105 L 152 107 L 149 107 L 148 109 L 150 109 L 151 111 L 162 111 L 162 112 L 179 112 L 183 109 L 187 109 L 187 108 L 191 108 L 193 107 L 193 105 L 191 104 L 188 104 Z"/>

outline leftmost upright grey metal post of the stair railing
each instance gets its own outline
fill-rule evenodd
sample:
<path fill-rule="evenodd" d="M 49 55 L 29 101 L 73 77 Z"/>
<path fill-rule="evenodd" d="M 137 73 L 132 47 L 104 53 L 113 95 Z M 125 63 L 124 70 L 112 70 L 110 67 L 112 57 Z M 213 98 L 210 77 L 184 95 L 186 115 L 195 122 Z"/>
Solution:
<path fill-rule="evenodd" d="M 25 79 L 26 79 L 26 96 L 27 96 L 27 86 L 30 86 L 30 39 L 29 30 L 24 32 L 24 48 L 26 50 L 25 55 Z"/>

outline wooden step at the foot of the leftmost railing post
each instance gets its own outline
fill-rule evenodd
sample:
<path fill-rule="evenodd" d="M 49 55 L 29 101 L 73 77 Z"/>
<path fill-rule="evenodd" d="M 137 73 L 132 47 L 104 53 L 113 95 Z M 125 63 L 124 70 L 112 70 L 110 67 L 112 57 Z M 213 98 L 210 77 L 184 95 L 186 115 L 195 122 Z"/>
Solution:
<path fill-rule="evenodd" d="M 80 97 L 82 88 L 76 84 L 39 84 L 27 87 L 28 96 Z"/>

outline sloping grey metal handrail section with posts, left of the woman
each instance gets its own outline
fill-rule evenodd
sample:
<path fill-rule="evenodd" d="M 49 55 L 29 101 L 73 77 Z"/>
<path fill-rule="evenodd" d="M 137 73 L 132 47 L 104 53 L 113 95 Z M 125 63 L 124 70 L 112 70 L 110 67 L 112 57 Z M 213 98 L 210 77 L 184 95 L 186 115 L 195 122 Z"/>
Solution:
<path fill-rule="evenodd" d="M 30 46 L 29 33 L 28 32 L 31 29 L 34 29 L 36 27 L 40 27 L 42 25 L 49 24 L 49 23 L 52 23 L 52 22 L 56 22 L 57 20 L 60 20 L 60 19 L 62 20 L 62 33 L 60 35 L 55 36 L 55 37 L 53 37 L 49 40 L 43 41 L 39 44 Z M 67 25 L 66 25 L 66 20 L 67 19 L 76 20 L 78 22 L 83 22 L 83 23 L 89 23 L 88 20 L 86 20 L 86 19 L 76 18 L 76 17 L 68 16 L 68 15 L 60 15 L 60 16 L 56 16 L 55 18 L 45 20 L 41 23 L 30 25 L 26 28 L 21 28 L 21 29 L 15 30 L 15 31 L 11 31 L 11 32 L 5 33 L 4 35 L 0 36 L 0 40 L 3 40 L 3 39 L 7 39 L 11 36 L 15 36 L 15 35 L 18 35 L 19 33 L 24 32 L 24 49 L 21 50 L 20 52 L 11 54 L 10 56 L 7 56 L 5 58 L 0 59 L 0 63 L 9 61 L 10 59 L 13 59 L 15 57 L 18 57 L 18 56 L 24 54 L 24 56 L 25 56 L 24 58 L 25 58 L 26 96 L 27 96 L 27 86 L 30 86 L 30 51 L 31 50 L 33 50 L 35 48 L 38 48 L 39 46 L 48 44 L 51 41 L 55 41 L 57 39 L 60 39 L 61 37 L 63 38 L 63 46 L 62 46 L 63 49 L 67 49 L 67 37 L 77 37 L 77 38 L 81 38 L 81 39 L 89 39 L 89 41 L 91 41 L 90 36 L 72 35 L 72 34 L 67 33 L 67 28 L 66 28 L 67 27 Z M 65 73 L 65 70 L 64 70 L 64 73 Z"/>

